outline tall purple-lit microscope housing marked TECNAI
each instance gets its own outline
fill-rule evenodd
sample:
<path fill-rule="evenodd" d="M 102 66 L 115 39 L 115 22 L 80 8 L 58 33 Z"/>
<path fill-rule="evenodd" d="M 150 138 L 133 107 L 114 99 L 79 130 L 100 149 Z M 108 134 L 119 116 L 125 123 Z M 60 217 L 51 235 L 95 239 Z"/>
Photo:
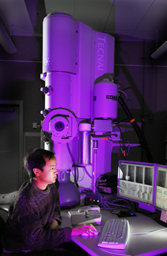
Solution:
<path fill-rule="evenodd" d="M 100 117 L 97 107 L 94 116 L 94 84 L 107 78 L 107 73 L 114 73 L 112 36 L 92 30 L 64 12 L 52 12 L 44 18 L 41 79 L 45 81 L 46 91 L 42 130 L 48 142 L 44 147 L 55 152 L 58 171 L 66 172 L 73 164 L 66 146 L 68 142 L 77 162 L 80 121 L 89 119 L 92 123 L 94 118 Z M 115 87 L 114 93 L 117 95 Z M 114 104 L 115 111 L 117 101 L 109 101 Z M 111 117 L 116 118 L 116 115 L 117 110 Z M 100 173 L 111 169 L 111 145 L 107 143 L 108 148 L 101 146 L 97 152 Z"/>

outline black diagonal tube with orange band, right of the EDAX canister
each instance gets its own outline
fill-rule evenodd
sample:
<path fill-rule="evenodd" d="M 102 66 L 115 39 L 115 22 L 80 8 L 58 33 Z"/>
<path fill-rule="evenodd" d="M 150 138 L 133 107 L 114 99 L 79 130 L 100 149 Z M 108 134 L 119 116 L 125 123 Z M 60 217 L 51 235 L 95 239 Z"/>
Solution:
<path fill-rule="evenodd" d="M 123 107 L 123 110 L 127 114 L 127 117 L 129 118 L 131 125 L 133 126 L 133 129 L 136 131 L 136 134 L 139 138 L 140 145 L 142 146 L 142 149 L 146 151 L 146 157 L 149 162 L 153 163 L 153 157 L 151 155 L 151 151 L 149 149 L 149 146 L 146 142 L 146 139 L 144 137 L 144 134 L 142 133 L 142 130 L 138 126 L 138 123 L 136 123 L 136 120 L 133 118 L 131 112 L 129 111 L 129 108 L 127 107 L 125 101 L 122 97 L 118 94 L 118 103 L 120 103 L 121 107 Z"/>

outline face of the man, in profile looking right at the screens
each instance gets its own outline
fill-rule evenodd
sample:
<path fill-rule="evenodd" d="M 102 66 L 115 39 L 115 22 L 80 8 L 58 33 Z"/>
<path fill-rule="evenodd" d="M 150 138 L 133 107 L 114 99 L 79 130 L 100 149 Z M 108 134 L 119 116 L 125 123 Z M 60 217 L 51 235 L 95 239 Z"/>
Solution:
<path fill-rule="evenodd" d="M 55 179 L 57 178 L 57 170 L 56 166 L 56 159 L 51 158 L 44 158 L 46 165 L 43 167 L 43 170 L 39 172 L 38 181 L 40 181 L 41 185 L 48 185 L 51 183 L 55 183 Z"/>

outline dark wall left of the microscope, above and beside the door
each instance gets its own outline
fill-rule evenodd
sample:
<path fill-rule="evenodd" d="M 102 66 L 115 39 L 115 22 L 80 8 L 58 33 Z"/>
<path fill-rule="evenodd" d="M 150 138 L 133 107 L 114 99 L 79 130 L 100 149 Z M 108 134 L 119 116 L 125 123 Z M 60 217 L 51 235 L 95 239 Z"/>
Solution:
<path fill-rule="evenodd" d="M 42 38 L 14 36 L 13 40 L 17 49 L 14 54 L 0 46 L 0 99 L 23 100 L 23 131 L 32 131 L 32 124 L 43 120 Z"/>

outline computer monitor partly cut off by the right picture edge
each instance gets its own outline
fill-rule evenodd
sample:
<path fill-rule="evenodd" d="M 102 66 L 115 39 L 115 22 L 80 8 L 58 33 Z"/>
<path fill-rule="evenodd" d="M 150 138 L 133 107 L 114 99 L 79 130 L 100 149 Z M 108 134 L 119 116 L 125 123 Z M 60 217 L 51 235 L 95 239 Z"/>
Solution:
<path fill-rule="evenodd" d="M 167 166 L 157 164 L 155 207 L 167 211 Z"/>

